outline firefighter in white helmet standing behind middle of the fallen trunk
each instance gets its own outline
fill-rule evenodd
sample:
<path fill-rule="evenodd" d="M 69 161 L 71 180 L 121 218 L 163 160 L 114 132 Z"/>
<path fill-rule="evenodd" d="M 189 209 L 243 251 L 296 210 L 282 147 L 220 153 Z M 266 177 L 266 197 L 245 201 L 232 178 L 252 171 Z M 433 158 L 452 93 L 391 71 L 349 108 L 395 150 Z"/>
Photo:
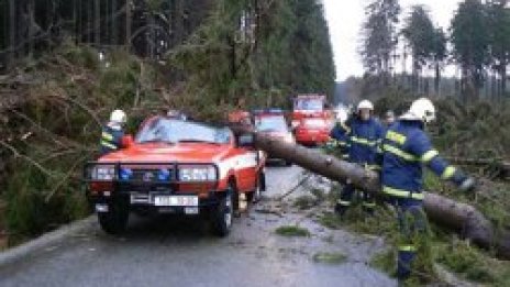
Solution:
<path fill-rule="evenodd" d="M 378 170 L 377 147 L 382 140 L 385 129 L 374 119 L 374 104 L 363 100 L 357 106 L 357 113 L 344 125 L 336 125 L 332 131 L 335 139 L 348 139 L 348 162 L 359 164 L 367 169 Z M 335 212 L 344 214 L 353 201 L 356 188 L 350 181 L 344 186 L 336 202 Z M 363 192 L 363 208 L 373 213 L 375 199 L 368 192 Z"/>

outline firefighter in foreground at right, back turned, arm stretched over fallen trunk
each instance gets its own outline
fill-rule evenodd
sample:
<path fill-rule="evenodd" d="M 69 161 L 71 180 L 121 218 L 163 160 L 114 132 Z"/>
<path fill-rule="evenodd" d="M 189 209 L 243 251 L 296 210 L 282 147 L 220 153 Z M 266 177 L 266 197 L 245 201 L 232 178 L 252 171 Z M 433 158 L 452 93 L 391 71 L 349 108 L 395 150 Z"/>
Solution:
<path fill-rule="evenodd" d="M 448 165 L 431 145 L 424 124 L 435 119 L 433 103 L 415 100 L 407 113 L 389 126 L 382 142 L 382 192 L 398 211 L 400 242 L 397 275 L 411 274 L 417 251 L 426 249 L 428 220 L 423 211 L 422 166 L 426 165 L 442 179 L 451 180 L 461 190 L 474 189 L 475 180 Z"/>

